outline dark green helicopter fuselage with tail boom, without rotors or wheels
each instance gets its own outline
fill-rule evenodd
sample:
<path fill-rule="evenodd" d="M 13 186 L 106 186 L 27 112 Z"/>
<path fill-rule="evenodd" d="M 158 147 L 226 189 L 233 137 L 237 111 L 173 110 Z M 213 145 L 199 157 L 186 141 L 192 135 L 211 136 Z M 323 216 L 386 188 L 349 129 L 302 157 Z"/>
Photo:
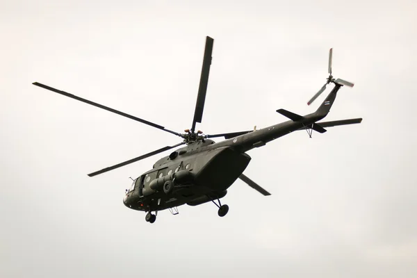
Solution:
<path fill-rule="evenodd" d="M 331 104 L 338 88 L 336 86 L 327 97 Z M 250 163 L 247 151 L 314 124 L 327 115 L 331 104 L 324 113 L 319 108 L 316 113 L 305 115 L 300 120 L 288 120 L 221 142 L 200 140 L 177 149 L 170 156 L 156 161 L 152 170 L 133 181 L 124 197 L 124 204 L 139 211 L 162 211 L 183 204 L 196 206 L 220 199 Z M 169 194 L 163 190 L 167 181 L 174 184 L 174 190 Z"/>

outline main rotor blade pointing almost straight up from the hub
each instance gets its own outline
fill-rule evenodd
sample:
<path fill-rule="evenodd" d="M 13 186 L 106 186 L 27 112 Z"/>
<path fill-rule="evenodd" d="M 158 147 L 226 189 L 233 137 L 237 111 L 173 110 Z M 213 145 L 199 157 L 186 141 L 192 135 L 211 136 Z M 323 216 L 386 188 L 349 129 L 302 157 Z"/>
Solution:
<path fill-rule="evenodd" d="M 195 130 L 196 122 L 202 122 L 204 101 L 206 100 L 208 74 L 210 73 L 211 53 L 213 52 L 213 42 L 214 40 L 212 38 L 206 38 L 206 49 L 204 49 L 202 75 L 200 77 L 197 102 L 195 104 L 194 119 L 193 125 L 191 127 L 191 132 Z"/>

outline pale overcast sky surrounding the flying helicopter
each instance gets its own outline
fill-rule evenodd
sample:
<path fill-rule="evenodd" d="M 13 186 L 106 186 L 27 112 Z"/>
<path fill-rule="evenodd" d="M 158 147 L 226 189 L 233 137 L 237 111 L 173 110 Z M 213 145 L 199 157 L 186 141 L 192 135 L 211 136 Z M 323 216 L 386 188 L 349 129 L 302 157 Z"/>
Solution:
<path fill-rule="evenodd" d="M 416 277 L 415 1 L 0 1 L 0 277 Z M 327 133 L 253 149 L 222 204 L 122 204 L 172 134 L 34 81 L 189 129 L 206 35 L 205 133 L 284 122 L 333 75 Z M 221 179 L 221 177 L 219 177 Z"/>

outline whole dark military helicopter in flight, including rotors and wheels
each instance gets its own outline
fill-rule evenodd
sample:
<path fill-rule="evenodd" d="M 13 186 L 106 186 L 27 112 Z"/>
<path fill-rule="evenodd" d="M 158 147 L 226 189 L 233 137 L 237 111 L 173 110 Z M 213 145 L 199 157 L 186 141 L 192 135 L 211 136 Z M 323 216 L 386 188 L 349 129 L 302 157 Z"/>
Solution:
<path fill-rule="evenodd" d="M 131 187 L 126 189 L 123 199 L 124 205 L 134 210 L 145 211 L 145 220 L 149 223 L 155 222 L 158 211 L 169 209 L 170 212 L 175 215 L 178 213 L 178 206 L 183 204 L 197 206 L 206 202 L 213 202 L 218 206 L 218 215 L 223 217 L 229 211 L 229 206 L 227 206 L 227 204 L 222 204 L 220 199 L 227 194 L 227 188 L 229 188 L 236 179 L 241 179 L 247 183 L 247 185 L 254 188 L 254 190 L 257 190 L 265 196 L 270 195 L 267 190 L 261 188 L 261 186 L 243 174 L 243 171 L 245 171 L 245 168 L 251 160 L 251 157 L 246 154 L 246 152 L 254 148 L 263 147 L 266 143 L 293 131 L 306 130 L 311 137 L 313 131 L 325 133 L 325 127 L 358 124 L 362 120 L 361 118 L 357 118 L 332 122 L 318 122 L 329 113 L 338 90 L 343 85 L 347 87 L 353 87 L 354 85 L 343 79 L 333 78 L 332 49 L 330 49 L 329 77 L 327 77 L 325 85 L 323 85 L 316 95 L 309 100 L 308 104 L 310 105 L 322 92 L 324 92 L 329 83 L 334 83 L 334 88 L 316 112 L 301 116 L 284 109 L 279 109 L 277 110 L 277 113 L 288 117 L 288 121 L 259 130 L 256 130 L 255 128 L 250 131 L 213 135 L 202 133 L 202 131 L 196 129 L 196 123 L 202 122 L 213 42 L 213 38 L 206 37 L 202 74 L 199 83 L 197 103 L 195 104 L 193 122 L 191 124 L 191 129 L 186 129 L 184 133 L 165 129 L 164 126 L 159 124 L 154 124 L 153 122 L 97 104 L 88 99 L 77 97 L 68 92 L 51 88 L 42 83 L 33 83 L 33 85 L 51 90 L 52 92 L 57 92 L 60 95 L 83 101 L 86 104 L 96 106 L 124 117 L 129 117 L 132 120 L 142 122 L 149 126 L 154 126 L 156 129 L 172 133 L 182 139 L 177 145 L 162 147 L 161 149 L 156 149 L 154 152 L 149 152 L 148 154 L 138 156 L 129 161 L 124 161 L 111 167 L 106 167 L 103 170 L 88 174 L 89 177 L 94 177 L 97 174 L 115 170 L 118 167 L 140 161 L 149 156 L 154 156 L 155 154 L 165 152 L 168 149 L 186 145 L 185 147 L 176 149 L 169 156 L 165 156 L 156 161 L 151 170 L 141 174 L 138 178 L 133 179 Z M 220 137 L 224 137 L 225 140 L 214 142 L 210 139 Z M 155 214 L 152 212 L 155 212 Z"/>

